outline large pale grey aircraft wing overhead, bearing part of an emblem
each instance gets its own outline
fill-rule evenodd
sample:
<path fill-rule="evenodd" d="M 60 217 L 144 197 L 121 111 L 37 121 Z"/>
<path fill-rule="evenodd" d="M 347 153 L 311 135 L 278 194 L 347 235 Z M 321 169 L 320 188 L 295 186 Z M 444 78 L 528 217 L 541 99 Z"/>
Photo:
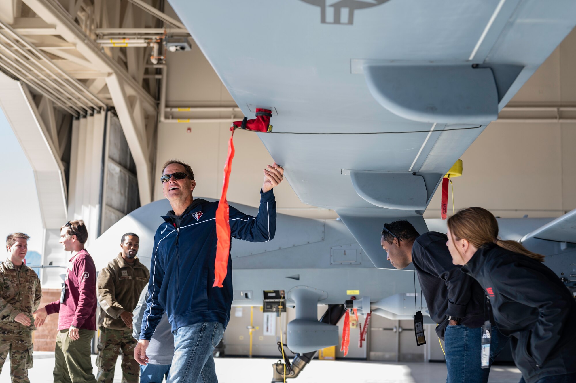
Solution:
<path fill-rule="evenodd" d="M 272 110 L 272 133 L 237 134 L 258 134 L 376 267 L 382 224 L 427 231 L 443 175 L 576 25 L 573 0 L 170 5 L 245 116 Z"/>

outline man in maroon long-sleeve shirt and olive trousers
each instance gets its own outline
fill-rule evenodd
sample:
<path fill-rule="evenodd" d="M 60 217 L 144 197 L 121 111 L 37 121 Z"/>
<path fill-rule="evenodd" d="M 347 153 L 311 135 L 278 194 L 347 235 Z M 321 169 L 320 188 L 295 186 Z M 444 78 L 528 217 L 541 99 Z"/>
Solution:
<path fill-rule="evenodd" d="M 35 312 L 36 325 L 58 312 L 54 383 L 96 383 L 92 374 L 90 342 L 96 330 L 96 266 L 84 248 L 88 230 L 84 221 L 68 221 L 60 228 L 60 242 L 70 251 L 60 300 Z"/>

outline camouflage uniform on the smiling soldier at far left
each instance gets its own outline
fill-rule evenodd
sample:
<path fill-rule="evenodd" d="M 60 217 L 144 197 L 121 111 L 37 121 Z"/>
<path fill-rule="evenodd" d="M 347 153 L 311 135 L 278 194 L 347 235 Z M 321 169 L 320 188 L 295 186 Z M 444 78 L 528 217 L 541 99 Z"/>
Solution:
<path fill-rule="evenodd" d="M 0 373 L 10 355 L 10 377 L 13 383 L 29 383 L 28 369 L 32 367 L 32 331 L 36 330 L 32 313 L 40 305 L 40 279 L 32 269 L 22 265 L 20 270 L 9 260 L 0 263 Z M 14 321 L 24 313 L 32 324 Z"/>

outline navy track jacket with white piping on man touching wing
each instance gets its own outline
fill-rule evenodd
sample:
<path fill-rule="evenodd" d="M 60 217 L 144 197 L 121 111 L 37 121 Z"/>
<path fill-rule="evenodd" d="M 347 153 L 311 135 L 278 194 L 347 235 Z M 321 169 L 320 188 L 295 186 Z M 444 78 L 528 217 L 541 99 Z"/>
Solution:
<path fill-rule="evenodd" d="M 230 206 L 230 233 L 250 242 L 268 242 L 276 231 L 276 202 L 272 190 L 260 193 L 256 217 Z M 194 200 L 183 215 L 172 211 L 156 230 L 150 265 L 149 298 L 142 319 L 140 339 L 150 340 L 162 314 L 172 330 L 202 322 L 226 327 L 232 307 L 232 258 L 223 288 L 214 284 L 216 209 L 218 202 Z"/>

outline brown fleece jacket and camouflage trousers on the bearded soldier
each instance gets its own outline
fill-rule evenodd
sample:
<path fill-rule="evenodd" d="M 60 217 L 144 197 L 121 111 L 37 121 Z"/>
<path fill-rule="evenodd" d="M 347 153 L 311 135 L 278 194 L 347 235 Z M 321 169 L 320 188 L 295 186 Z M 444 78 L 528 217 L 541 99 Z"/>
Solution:
<path fill-rule="evenodd" d="M 128 263 L 122 258 L 122 253 L 98 274 L 98 382 L 112 383 L 119 353 L 122 353 L 122 383 L 139 381 L 140 365 L 134 359 L 137 341 L 132 337 L 132 327 L 124 323 L 120 314 L 134 311 L 149 278 L 150 272 L 138 258 L 134 263 Z"/>

